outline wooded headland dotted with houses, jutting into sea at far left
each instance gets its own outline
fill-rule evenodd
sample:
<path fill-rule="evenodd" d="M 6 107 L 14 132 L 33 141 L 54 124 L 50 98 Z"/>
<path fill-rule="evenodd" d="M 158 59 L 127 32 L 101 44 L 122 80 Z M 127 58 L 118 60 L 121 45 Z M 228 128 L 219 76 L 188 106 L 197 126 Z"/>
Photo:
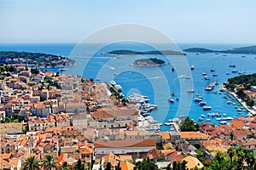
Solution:
<path fill-rule="evenodd" d="M 56 68 L 65 65 L 75 65 L 76 62 L 73 59 L 54 54 L 0 51 L 0 65 L 3 64 L 35 65 L 38 68 Z"/>

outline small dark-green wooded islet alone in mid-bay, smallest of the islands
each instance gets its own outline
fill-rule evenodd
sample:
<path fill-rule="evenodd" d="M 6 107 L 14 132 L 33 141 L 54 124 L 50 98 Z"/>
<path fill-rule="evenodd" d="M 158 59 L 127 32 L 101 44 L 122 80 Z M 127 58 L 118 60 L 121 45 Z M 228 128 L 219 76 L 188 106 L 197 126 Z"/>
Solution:
<path fill-rule="evenodd" d="M 170 65 L 162 59 L 149 58 L 149 59 L 137 59 L 131 66 L 161 66 L 161 65 Z"/>

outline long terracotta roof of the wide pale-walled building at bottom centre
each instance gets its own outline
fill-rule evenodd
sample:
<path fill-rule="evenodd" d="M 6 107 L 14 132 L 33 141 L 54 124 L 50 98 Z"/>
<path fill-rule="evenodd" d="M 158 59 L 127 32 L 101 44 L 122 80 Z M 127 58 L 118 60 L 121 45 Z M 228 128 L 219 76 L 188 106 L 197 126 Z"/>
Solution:
<path fill-rule="evenodd" d="M 147 147 L 155 146 L 155 139 L 96 141 L 95 148 Z"/>

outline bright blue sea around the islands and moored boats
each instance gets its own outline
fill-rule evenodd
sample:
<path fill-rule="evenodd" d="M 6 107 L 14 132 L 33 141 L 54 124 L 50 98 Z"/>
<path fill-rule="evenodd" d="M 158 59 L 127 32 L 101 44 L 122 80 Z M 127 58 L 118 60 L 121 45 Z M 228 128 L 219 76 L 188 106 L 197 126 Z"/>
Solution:
<path fill-rule="evenodd" d="M 210 44 L 210 43 L 180 43 L 175 50 L 184 48 L 211 48 L 227 49 L 246 47 L 250 44 Z M 157 47 L 157 48 L 155 48 Z M 227 82 L 228 78 L 236 77 L 238 71 L 251 74 L 256 72 L 255 54 L 201 54 L 186 53 L 186 56 L 163 56 L 163 55 L 134 55 L 134 56 L 112 56 L 103 54 L 117 49 L 129 49 L 137 51 L 150 51 L 155 49 L 169 49 L 168 44 L 148 45 L 139 42 L 116 42 L 113 44 L 75 44 L 75 43 L 43 43 L 43 44 L 0 44 L 0 50 L 4 51 L 26 51 L 40 52 L 46 54 L 58 54 L 75 59 L 78 65 L 67 67 L 67 73 L 94 78 L 97 82 L 110 82 L 114 80 L 123 88 L 122 94 L 125 97 L 140 93 L 148 96 L 149 103 L 158 105 L 156 111 L 151 115 L 158 122 L 168 122 L 169 119 L 179 116 L 189 116 L 198 121 L 199 116 L 205 115 L 202 122 L 211 119 L 211 122 L 218 124 L 216 117 L 207 117 L 207 113 L 226 113 L 227 116 L 247 116 L 247 111 L 238 114 L 235 105 L 236 100 L 232 100 L 234 105 L 228 105 L 224 99 L 224 93 L 213 94 L 214 90 L 221 88 L 222 82 Z M 143 58 L 163 59 L 170 65 L 159 67 L 136 67 L 130 64 L 136 59 Z M 195 65 L 195 70 L 191 71 L 190 66 Z M 230 68 L 229 65 L 236 65 Z M 175 71 L 172 71 L 172 67 Z M 214 69 L 215 72 L 210 71 Z M 49 69 L 48 69 L 49 70 Z M 60 71 L 53 69 L 53 71 Z M 205 80 L 202 72 L 206 72 L 210 80 Z M 230 75 L 226 75 L 230 72 Z M 218 76 L 212 75 L 217 73 Z M 187 78 L 185 78 L 187 77 Z M 191 79 L 189 79 L 191 77 Z M 208 83 L 219 82 L 212 91 L 205 91 Z M 194 94 L 186 93 L 186 90 L 193 88 Z M 177 98 L 174 103 L 167 101 L 171 93 L 174 92 Z M 196 94 L 203 96 L 203 101 L 208 106 L 212 106 L 211 111 L 203 111 L 202 106 L 194 102 Z M 230 99 L 231 100 L 231 99 Z M 241 106 L 239 106 L 241 107 Z M 169 130 L 169 127 L 162 126 L 162 131 Z"/>

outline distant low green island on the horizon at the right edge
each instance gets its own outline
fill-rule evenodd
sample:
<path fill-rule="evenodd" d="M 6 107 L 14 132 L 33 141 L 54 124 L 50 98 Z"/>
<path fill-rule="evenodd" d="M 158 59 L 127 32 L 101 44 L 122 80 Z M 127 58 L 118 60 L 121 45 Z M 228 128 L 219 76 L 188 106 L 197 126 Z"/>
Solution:
<path fill-rule="evenodd" d="M 195 53 L 256 54 L 256 45 L 243 48 L 231 48 L 225 50 L 212 50 L 207 48 L 187 48 L 183 51 Z"/>

